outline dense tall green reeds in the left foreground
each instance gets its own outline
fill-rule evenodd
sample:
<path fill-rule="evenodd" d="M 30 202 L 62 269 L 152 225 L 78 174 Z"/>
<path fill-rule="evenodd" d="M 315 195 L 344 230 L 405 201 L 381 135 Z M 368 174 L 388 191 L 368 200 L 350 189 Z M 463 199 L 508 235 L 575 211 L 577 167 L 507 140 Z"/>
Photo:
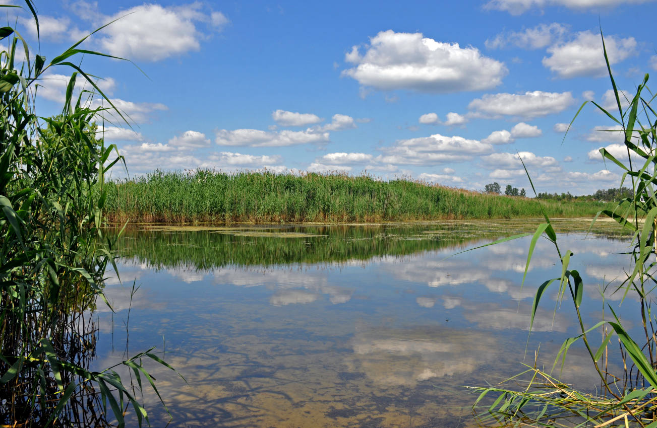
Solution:
<path fill-rule="evenodd" d="M 25 3 L 38 33 L 34 5 Z M 0 39 L 9 40 L 0 53 L 0 425 L 106 426 L 113 417 L 122 426 L 129 406 L 141 425 L 147 413 L 138 388 L 125 384 L 116 366 L 88 370 L 96 336 L 87 312 L 114 265 L 115 240 L 102 229 L 104 177 L 122 158 L 96 139 L 93 121 L 102 109 L 83 100 L 112 102 L 70 60 L 108 55 L 79 49 L 85 37 L 47 63 L 14 28 L 0 28 Z M 55 66 L 73 72 L 66 101 L 59 116 L 41 118 L 35 93 Z M 76 99 L 78 78 L 89 91 Z M 139 388 L 147 381 L 155 389 L 141 360 L 166 365 L 151 351 L 117 365 L 131 370 Z"/>

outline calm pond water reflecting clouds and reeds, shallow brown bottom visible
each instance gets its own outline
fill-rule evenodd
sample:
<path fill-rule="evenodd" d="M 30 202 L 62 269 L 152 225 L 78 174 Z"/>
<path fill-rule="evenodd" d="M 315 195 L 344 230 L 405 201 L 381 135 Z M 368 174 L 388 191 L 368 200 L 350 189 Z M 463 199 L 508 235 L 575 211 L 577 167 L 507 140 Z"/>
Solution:
<path fill-rule="evenodd" d="M 465 385 L 551 366 L 577 332 L 572 303 L 555 316 L 555 285 L 531 335 L 537 286 L 559 276 L 542 238 L 521 286 L 530 238 L 466 253 L 539 221 L 339 226 L 140 226 L 120 240 L 120 279 L 99 303 L 95 368 L 156 346 L 187 382 L 157 365 L 171 427 L 478 426 Z M 556 222 L 585 284 L 587 323 L 617 283 L 629 239 L 599 222 Z M 448 257 L 452 256 L 452 257 Z M 139 288 L 131 291 L 133 283 Z M 618 306 L 620 295 L 607 293 Z M 618 314 L 635 325 L 635 301 Z M 527 353 L 525 352 L 527 349 Z M 125 373 L 125 376 L 128 374 Z M 561 375 L 595 389 L 574 345 Z M 143 397 L 153 426 L 170 417 Z"/>

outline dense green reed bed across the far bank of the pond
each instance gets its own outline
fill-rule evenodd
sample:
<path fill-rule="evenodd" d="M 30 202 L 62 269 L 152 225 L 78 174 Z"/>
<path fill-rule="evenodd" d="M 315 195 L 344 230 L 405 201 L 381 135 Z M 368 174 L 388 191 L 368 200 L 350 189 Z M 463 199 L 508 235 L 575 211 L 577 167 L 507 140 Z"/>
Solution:
<path fill-rule="evenodd" d="M 109 182 L 106 215 L 124 223 L 305 223 L 539 217 L 539 202 L 369 175 L 208 169 Z M 600 202 L 543 201 L 554 217 L 593 217 Z"/>

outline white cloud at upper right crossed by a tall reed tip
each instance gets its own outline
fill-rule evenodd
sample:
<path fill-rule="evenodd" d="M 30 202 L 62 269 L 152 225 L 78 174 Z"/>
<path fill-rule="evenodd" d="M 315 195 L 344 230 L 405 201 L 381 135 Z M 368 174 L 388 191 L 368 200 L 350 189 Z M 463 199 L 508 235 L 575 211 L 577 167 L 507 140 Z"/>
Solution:
<path fill-rule="evenodd" d="M 617 64 L 636 53 L 637 41 L 634 37 L 622 39 L 614 35 L 604 37 L 610 64 Z M 543 58 L 543 66 L 559 77 L 593 76 L 607 74 L 607 66 L 602 55 L 602 39 L 590 31 L 577 33 L 575 39 L 559 43 L 547 49 L 551 56 Z"/>

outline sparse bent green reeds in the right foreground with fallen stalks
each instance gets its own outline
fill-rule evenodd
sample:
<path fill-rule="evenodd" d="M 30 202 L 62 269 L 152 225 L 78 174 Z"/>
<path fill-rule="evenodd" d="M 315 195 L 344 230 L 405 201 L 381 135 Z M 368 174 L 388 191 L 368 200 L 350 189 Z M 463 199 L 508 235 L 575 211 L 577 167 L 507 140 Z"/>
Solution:
<path fill-rule="evenodd" d="M 555 360 L 555 368 L 563 364 L 570 347 L 581 341 L 590 358 L 590 364 L 600 378 L 600 391 L 597 394 L 585 394 L 557 381 L 555 377 L 536 368 L 507 379 L 495 387 L 475 388 L 480 391 L 475 406 L 483 403 L 484 398 L 492 399 L 488 413 L 480 415 L 480 421 L 487 425 L 502 426 L 640 426 L 657 427 L 657 343 L 655 342 L 655 322 L 657 318 L 651 311 L 652 292 L 657 284 L 654 278 L 657 251 L 657 112 L 651 103 L 654 96 L 648 89 L 648 74 L 631 100 L 623 100 L 611 72 L 604 39 L 602 40 L 604 58 L 612 84 L 618 116 L 608 112 L 595 102 L 595 107 L 620 126 L 625 148 L 626 163 L 615 158 L 606 149 L 600 153 L 606 161 L 611 161 L 623 169 L 623 182 L 631 182 L 633 193 L 621 200 L 615 209 L 600 211 L 600 215 L 613 219 L 620 227 L 633 234 L 633 245 L 629 253 L 630 267 L 622 285 L 616 293 L 622 293 L 623 299 L 628 293 L 634 293 L 639 304 L 639 313 L 643 324 L 643 334 L 631 337 L 628 330 L 616 316 L 616 312 L 607 304 L 612 320 L 602 320 L 593 326 L 585 326 L 580 305 L 583 299 L 583 282 L 579 272 L 570 268 L 574 255 L 569 249 L 562 249 L 551 221 L 547 215 L 545 223 L 538 226 L 533 234 L 528 251 L 525 276 L 532 259 L 533 249 L 541 236 L 550 240 L 560 259 L 561 274 L 551 278 L 537 289 L 533 301 L 531 324 L 541 297 L 550 286 L 558 287 L 559 300 L 569 300 L 578 320 L 579 332 L 566 339 Z M 579 108 L 579 112 L 587 104 Z M 629 103 L 623 109 L 623 102 Z M 573 122 L 571 122 L 572 125 Z M 618 132 L 618 131 L 615 131 Z M 529 175 L 529 174 L 528 174 Z M 531 179 L 530 179 L 531 182 Z M 533 189 L 533 184 L 532 184 Z M 535 192 L 535 189 L 534 189 Z M 524 282 L 524 278 L 523 278 Z M 602 341 L 596 342 L 596 337 Z M 614 358 L 614 337 L 618 340 L 620 355 L 625 370 L 622 373 L 610 373 L 607 363 Z M 491 398 L 495 396 L 495 398 Z M 491 419 L 492 418 L 492 419 Z"/>

